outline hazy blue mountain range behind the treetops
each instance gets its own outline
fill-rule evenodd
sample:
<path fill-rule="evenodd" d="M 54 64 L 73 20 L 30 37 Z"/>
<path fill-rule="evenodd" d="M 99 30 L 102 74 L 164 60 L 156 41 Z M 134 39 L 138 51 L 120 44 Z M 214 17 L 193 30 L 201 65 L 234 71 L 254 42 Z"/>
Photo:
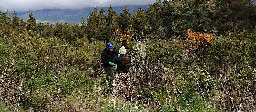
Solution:
<path fill-rule="evenodd" d="M 124 10 L 125 6 L 114 6 L 112 7 L 116 13 L 120 13 Z M 126 5 L 131 14 L 134 11 L 138 10 L 140 7 L 144 10 L 147 10 L 148 5 Z M 105 14 L 107 14 L 108 7 L 98 7 L 98 10 L 103 8 Z M 94 7 L 84 7 L 82 9 L 43 9 L 36 11 L 27 11 L 27 12 L 16 12 L 17 16 L 24 21 L 29 19 L 29 13 L 32 12 L 34 18 L 37 22 L 41 21 L 42 23 L 49 23 L 55 25 L 57 22 L 60 23 L 69 23 L 72 25 L 73 23 L 81 23 L 82 17 L 84 17 L 84 21 L 87 20 L 90 12 L 93 12 Z M 11 13 L 12 14 L 12 13 Z"/>

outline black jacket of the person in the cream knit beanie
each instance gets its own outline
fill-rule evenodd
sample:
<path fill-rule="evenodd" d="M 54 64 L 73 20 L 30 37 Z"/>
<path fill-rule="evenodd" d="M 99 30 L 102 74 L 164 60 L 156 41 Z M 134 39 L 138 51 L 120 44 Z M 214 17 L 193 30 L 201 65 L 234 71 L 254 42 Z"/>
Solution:
<path fill-rule="evenodd" d="M 126 56 L 129 59 L 129 63 L 131 63 L 131 58 Z M 113 59 L 113 62 L 117 63 L 117 73 L 129 73 L 130 71 L 124 71 L 122 63 L 124 62 L 124 55 L 120 55 L 119 57 L 116 57 Z"/>

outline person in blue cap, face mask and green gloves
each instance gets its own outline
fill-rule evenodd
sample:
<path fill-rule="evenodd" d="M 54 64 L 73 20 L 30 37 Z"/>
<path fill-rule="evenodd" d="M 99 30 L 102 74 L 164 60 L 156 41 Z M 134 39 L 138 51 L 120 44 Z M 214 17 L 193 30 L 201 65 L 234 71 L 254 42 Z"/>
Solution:
<path fill-rule="evenodd" d="M 114 59 L 114 54 L 117 56 L 120 56 L 118 51 L 114 49 L 114 46 L 112 45 L 112 43 L 108 42 L 106 44 L 106 48 L 101 53 L 101 63 L 103 63 L 104 70 L 106 72 L 106 80 L 111 84 L 113 84 L 113 80 L 115 79 L 115 76 L 113 73 L 113 66 L 115 64 L 112 61 Z"/>

